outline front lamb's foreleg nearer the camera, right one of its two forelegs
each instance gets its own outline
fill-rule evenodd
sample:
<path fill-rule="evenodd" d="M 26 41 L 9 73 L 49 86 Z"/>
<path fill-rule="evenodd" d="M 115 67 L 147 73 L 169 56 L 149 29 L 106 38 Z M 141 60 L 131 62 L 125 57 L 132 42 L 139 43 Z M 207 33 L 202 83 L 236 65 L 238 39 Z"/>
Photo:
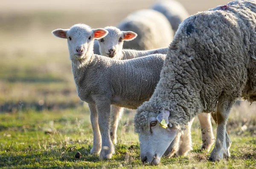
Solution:
<path fill-rule="evenodd" d="M 114 153 L 114 146 L 110 138 L 110 102 L 101 100 L 96 102 L 98 111 L 99 130 L 102 136 L 102 149 L 99 153 L 100 159 L 111 158 Z"/>

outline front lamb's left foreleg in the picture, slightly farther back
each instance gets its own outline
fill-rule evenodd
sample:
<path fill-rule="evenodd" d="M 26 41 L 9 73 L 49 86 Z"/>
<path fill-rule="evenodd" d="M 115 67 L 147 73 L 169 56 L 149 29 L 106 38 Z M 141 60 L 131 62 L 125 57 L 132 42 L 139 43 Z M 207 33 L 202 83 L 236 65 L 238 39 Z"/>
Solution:
<path fill-rule="evenodd" d="M 99 154 L 101 150 L 101 135 L 99 132 L 99 124 L 98 124 L 98 114 L 96 110 L 96 106 L 92 104 L 88 104 L 90 109 L 90 120 L 93 128 L 93 148 L 90 150 L 91 154 Z"/>

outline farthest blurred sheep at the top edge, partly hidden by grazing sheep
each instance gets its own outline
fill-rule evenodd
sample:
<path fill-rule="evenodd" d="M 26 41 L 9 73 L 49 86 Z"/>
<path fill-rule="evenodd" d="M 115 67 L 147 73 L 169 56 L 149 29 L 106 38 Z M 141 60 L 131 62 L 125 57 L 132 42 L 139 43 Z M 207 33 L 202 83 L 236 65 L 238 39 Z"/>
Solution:
<path fill-rule="evenodd" d="M 154 3 L 151 9 L 164 14 L 171 23 L 174 32 L 177 31 L 180 23 L 189 17 L 189 13 L 186 11 L 183 5 L 176 0 L 161 0 Z"/>

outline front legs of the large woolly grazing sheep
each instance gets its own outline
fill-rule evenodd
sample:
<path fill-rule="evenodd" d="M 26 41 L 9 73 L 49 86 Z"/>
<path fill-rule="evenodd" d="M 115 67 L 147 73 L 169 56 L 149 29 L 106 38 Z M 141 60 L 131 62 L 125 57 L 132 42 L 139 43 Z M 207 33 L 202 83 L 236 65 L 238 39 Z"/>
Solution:
<path fill-rule="evenodd" d="M 217 122 L 217 135 L 215 140 L 215 147 L 213 148 L 209 160 L 218 161 L 223 158 L 229 158 L 229 148 L 231 145 L 230 139 L 226 132 L 226 124 L 230 109 L 236 100 L 219 100 L 217 105 L 217 112 L 215 114 L 215 121 Z"/>

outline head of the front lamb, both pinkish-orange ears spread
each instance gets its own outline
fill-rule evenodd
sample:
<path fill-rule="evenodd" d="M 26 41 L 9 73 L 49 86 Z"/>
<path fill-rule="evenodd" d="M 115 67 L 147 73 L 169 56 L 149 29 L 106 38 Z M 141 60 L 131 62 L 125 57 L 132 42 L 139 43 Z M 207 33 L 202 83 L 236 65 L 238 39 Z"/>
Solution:
<path fill-rule="evenodd" d="M 56 29 L 52 34 L 67 39 L 71 60 L 87 60 L 93 54 L 93 40 L 105 37 L 108 31 L 91 29 L 85 24 L 76 24 L 70 29 Z"/>

